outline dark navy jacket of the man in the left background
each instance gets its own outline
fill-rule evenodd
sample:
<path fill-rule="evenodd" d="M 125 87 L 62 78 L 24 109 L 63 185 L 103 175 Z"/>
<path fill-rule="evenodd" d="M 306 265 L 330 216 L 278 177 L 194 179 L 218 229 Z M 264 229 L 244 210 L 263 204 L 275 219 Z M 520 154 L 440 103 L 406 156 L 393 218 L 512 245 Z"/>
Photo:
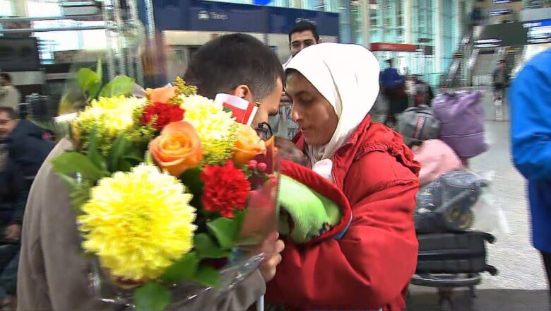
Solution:
<path fill-rule="evenodd" d="M 11 158 L 19 165 L 26 179 L 35 177 L 54 143 L 45 139 L 47 130 L 22 119 L 8 135 Z"/>

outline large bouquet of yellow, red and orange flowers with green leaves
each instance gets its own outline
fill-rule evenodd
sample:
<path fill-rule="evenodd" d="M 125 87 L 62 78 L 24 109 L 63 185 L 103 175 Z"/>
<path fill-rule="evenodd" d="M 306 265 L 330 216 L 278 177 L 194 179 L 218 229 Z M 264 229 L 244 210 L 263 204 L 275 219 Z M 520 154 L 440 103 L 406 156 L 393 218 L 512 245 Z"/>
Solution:
<path fill-rule="evenodd" d="M 69 124 L 74 151 L 52 163 L 93 279 L 119 291 L 109 301 L 162 310 L 188 298 L 171 298 L 178 284 L 230 286 L 245 272 L 227 271 L 254 270 L 255 246 L 276 226 L 273 143 L 180 78 L 146 98 L 130 95 L 125 76 L 102 86 L 81 69 L 78 83 L 90 99 Z"/>

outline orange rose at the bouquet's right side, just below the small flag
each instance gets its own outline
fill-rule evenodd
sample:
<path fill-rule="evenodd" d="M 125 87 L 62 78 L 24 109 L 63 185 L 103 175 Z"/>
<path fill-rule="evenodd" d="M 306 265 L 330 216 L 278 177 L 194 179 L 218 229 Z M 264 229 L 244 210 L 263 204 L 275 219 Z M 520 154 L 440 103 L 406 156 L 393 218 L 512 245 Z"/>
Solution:
<path fill-rule="evenodd" d="M 233 149 L 233 160 L 240 167 L 252 160 L 256 155 L 266 152 L 266 143 L 260 139 L 251 127 L 239 124 L 237 140 Z"/>

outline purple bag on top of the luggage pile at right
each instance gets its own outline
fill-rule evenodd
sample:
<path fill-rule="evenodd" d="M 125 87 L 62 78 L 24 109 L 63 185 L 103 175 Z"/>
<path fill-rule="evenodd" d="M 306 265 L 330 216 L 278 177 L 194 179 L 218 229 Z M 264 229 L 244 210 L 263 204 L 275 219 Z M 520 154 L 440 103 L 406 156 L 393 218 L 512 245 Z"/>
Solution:
<path fill-rule="evenodd" d="M 484 136 L 484 107 L 480 91 L 444 93 L 434 98 L 434 115 L 442 122 L 440 139 L 460 158 L 472 158 L 487 151 Z"/>

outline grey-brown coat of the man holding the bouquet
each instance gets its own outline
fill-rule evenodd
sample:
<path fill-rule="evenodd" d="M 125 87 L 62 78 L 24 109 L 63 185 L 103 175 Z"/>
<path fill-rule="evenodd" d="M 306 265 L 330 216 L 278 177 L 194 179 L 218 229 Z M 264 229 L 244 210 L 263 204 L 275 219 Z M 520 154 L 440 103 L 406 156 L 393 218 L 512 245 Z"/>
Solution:
<path fill-rule="evenodd" d="M 69 193 L 50 161 L 71 148 L 61 141 L 50 153 L 30 191 L 23 219 L 18 271 L 18 310 L 124 310 L 90 293 L 90 266 L 79 251 L 80 239 Z M 247 310 L 266 290 L 259 271 L 232 291 L 205 293 L 179 310 Z"/>

